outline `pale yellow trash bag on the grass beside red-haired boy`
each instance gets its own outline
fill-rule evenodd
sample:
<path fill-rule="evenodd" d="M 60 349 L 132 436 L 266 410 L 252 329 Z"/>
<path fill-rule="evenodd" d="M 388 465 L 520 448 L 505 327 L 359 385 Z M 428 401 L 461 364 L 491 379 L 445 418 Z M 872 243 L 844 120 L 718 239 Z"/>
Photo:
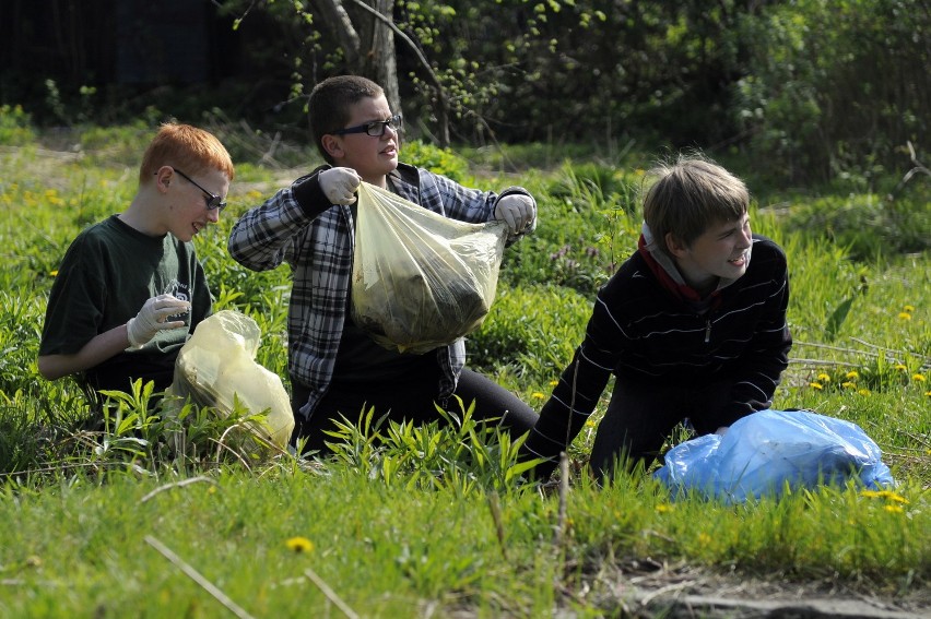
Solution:
<path fill-rule="evenodd" d="M 226 416 L 234 410 L 234 397 L 251 413 L 268 409 L 263 421 L 248 422 L 249 429 L 284 449 L 294 429 L 291 400 L 281 378 L 256 362 L 260 341 L 258 324 L 246 314 L 214 313 L 181 347 L 170 393 Z"/>

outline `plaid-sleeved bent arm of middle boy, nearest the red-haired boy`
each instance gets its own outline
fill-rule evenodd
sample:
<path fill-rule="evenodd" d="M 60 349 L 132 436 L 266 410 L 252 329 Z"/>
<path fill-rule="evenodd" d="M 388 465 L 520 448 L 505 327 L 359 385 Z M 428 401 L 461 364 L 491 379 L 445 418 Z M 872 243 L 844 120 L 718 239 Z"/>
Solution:
<path fill-rule="evenodd" d="M 268 271 L 291 261 L 295 237 L 332 207 L 318 179 L 323 169 L 328 166 L 298 178 L 239 217 L 226 242 L 229 255 L 252 271 Z"/>

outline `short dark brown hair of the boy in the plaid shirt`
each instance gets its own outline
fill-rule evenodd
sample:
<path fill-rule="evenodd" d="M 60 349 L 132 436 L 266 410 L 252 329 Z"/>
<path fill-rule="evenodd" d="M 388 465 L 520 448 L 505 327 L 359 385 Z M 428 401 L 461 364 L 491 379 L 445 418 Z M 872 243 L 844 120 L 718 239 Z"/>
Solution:
<path fill-rule="evenodd" d="M 323 135 L 345 127 L 350 120 L 351 106 L 364 98 L 374 99 L 384 94 L 381 86 L 361 75 L 335 75 L 314 86 L 307 103 L 307 114 L 317 150 L 327 162 L 333 163 L 323 148 Z"/>

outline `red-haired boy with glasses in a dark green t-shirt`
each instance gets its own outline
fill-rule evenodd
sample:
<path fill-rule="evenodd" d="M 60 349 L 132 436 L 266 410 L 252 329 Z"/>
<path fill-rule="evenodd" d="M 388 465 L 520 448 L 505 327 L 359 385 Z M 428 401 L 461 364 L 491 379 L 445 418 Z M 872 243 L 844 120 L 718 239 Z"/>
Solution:
<path fill-rule="evenodd" d="M 220 218 L 233 176 L 213 134 L 162 126 L 126 211 L 84 229 L 64 254 L 39 345 L 46 379 L 76 374 L 92 396 L 137 379 L 156 391 L 172 383 L 181 346 L 211 313 L 191 239 Z"/>

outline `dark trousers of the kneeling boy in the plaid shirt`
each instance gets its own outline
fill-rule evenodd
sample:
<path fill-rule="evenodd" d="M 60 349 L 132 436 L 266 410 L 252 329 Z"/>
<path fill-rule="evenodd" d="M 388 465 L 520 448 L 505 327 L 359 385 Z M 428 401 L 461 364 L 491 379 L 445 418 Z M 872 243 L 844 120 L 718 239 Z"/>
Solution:
<path fill-rule="evenodd" d="M 335 429 L 333 421 L 345 417 L 356 425 L 372 407 L 375 408 L 374 420 L 387 414 L 387 419 L 390 420 L 427 424 L 440 419 L 436 404 L 461 417 L 455 397 L 450 396 L 445 402 L 437 401 L 438 381 L 439 368 L 436 372 L 428 371 L 391 382 L 334 382 L 310 413 L 309 419 L 305 419 L 299 409 L 307 402 L 310 390 L 292 380 L 291 407 L 295 425 L 291 442 L 296 445 L 297 439 L 306 438 L 305 453 L 319 451 L 325 454 L 329 452 L 325 442 L 334 440 L 325 431 Z M 475 402 L 473 419 L 494 419 L 514 438 L 529 432 L 537 422 L 538 414 L 530 406 L 496 382 L 472 370 L 462 370 L 455 395 L 462 398 L 462 405 L 467 409 L 472 401 Z"/>

